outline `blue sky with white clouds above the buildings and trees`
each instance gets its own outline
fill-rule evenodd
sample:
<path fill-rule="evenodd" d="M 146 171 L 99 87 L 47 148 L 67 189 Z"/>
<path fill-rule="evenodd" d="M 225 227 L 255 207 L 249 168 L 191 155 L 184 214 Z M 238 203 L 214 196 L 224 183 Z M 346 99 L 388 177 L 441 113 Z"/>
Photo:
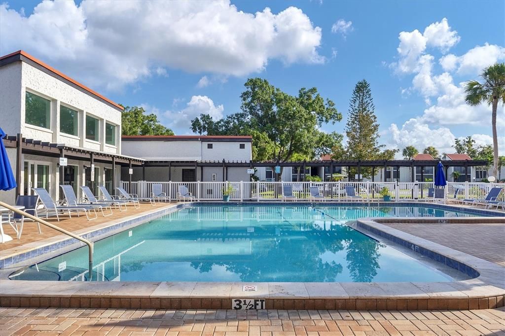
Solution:
<path fill-rule="evenodd" d="M 492 9 L 492 10 L 490 10 Z M 387 148 L 455 139 L 491 144 L 491 108 L 463 84 L 505 62 L 505 2 L 7 1 L 0 54 L 19 49 L 106 97 L 142 106 L 175 134 L 200 114 L 240 110 L 247 78 L 296 95 L 317 87 L 343 120 L 356 83 L 371 86 Z M 505 109 L 498 108 L 505 152 Z"/>

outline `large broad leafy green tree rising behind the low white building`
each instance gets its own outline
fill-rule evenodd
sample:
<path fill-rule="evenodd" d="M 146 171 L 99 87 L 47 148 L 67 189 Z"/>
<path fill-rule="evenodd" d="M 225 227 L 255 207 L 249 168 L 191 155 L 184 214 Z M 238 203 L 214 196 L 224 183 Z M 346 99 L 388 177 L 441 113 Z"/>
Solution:
<path fill-rule="evenodd" d="M 207 135 L 249 134 L 253 158 L 274 163 L 291 160 L 295 154 L 317 158 L 329 154 L 341 142 L 341 135 L 319 130 L 323 124 L 340 121 L 342 115 L 317 88 L 301 88 L 297 96 L 292 96 L 261 78 L 248 79 L 244 86 L 241 113 L 219 121 L 201 115 L 191 121 L 192 131 Z"/>

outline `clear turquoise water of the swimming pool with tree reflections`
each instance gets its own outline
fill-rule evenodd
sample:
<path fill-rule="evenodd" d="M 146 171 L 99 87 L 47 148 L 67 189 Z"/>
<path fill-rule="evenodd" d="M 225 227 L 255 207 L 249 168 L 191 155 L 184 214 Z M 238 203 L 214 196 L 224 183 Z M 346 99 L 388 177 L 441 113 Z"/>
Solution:
<path fill-rule="evenodd" d="M 188 207 L 96 242 L 92 281 L 451 281 L 344 223 L 362 217 L 469 215 L 430 207 Z M 11 278 L 82 281 L 86 269 L 83 247 Z"/>

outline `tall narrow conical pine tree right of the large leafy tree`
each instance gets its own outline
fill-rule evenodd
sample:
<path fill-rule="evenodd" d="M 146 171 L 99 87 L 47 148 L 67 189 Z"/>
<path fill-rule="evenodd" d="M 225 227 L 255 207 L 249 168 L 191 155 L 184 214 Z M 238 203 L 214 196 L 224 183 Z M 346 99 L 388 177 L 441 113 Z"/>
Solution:
<path fill-rule="evenodd" d="M 374 113 L 374 102 L 370 84 L 366 80 L 358 82 L 352 91 L 345 134 L 346 158 L 350 160 L 373 160 L 380 158 L 379 124 Z"/>

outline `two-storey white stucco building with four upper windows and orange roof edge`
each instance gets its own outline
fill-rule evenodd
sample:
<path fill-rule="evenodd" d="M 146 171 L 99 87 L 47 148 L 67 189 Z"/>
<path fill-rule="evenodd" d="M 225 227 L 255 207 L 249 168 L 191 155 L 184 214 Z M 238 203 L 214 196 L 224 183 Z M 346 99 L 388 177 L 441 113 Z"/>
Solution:
<path fill-rule="evenodd" d="M 9 135 L 18 182 L 3 197 L 13 202 L 16 193 L 30 195 L 31 188 L 42 187 L 58 199 L 59 184 L 72 185 L 78 195 L 82 185 L 112 191 L 120 177 L 116 165 L 141 163 L 121 155 L 122 110 L 22 50 L 1 57 L 0 125 Z M 60 166 L 62 156 L 67 166 Z"/>

